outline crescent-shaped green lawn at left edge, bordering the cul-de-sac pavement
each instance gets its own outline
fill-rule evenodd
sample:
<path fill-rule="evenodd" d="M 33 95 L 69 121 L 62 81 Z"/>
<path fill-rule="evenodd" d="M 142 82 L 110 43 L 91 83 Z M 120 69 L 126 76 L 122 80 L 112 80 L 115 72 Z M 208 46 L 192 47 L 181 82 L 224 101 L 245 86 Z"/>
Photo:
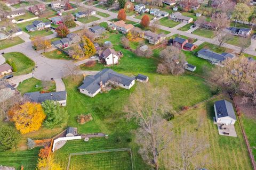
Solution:
<path fill-rule="evenodd" d="M 17 66 L 17 72 L 13 72 L 13 75 L 22 75 L 32 72 L 35 67 L 35 63 L 30 60 L 26 55 L 18 52 L 5 53 L 3 55 L 6 60 L 14 62 Z"/>

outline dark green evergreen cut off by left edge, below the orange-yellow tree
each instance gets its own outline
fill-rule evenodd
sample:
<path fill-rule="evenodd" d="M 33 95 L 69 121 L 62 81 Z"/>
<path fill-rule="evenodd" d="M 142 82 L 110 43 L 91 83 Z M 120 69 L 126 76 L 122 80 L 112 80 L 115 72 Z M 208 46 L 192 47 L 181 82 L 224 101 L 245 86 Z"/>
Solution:
<path fill-rule="evenodd" d="M 0 148 L 9 150 L 17 147 L 20 133 L 7 124 L 0 126 Z"/>

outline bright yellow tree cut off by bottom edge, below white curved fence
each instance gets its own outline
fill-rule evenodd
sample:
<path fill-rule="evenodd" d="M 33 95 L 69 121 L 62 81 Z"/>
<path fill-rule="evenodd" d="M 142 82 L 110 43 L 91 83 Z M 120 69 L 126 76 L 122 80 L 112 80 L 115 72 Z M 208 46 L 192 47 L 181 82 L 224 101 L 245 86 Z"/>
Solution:
<path fill-rule="evenodd" d="M 49 158 L 44 158 L 44 159 L 39 158 L 37 162 L 37 168 L 38 170 L 45 170 L 45 169 L 62 170 L 60 165 L 55 163 L 54 159 L 51 156 Z"/>

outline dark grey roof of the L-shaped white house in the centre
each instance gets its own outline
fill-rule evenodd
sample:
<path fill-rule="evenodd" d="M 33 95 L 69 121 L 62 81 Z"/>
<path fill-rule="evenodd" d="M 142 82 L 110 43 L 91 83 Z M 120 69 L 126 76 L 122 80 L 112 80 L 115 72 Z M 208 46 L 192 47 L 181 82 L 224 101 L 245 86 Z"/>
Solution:
<path fill-rule="evenodd" d="M 89 75 L 85 77 L 83 84 L 78 87 L 78 89 L 85 89 L 91 94 L 94 94 L 97 90 L 100 89 L 101 81 L 103 84 L 106 84 L 106 82 L 111 79 L 118 79 L 118 82 L 126 86 L 130 86 L 131 82 L 134 80 L 134 78 L 130 78 L 126 75 L 116 73 L 111 69 L 103 69 L 95 75 Z"/>

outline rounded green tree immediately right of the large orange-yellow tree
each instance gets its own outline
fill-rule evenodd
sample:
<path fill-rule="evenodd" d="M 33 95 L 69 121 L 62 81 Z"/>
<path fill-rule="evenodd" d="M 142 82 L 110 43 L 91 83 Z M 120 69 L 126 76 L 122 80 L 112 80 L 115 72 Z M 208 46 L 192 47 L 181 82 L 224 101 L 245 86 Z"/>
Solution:
<path fill-rule="evenodd" d="M 42 103 L 46 119 L 43 125 L 46 128 L 60 127 L 68 120 L 68 113 L 59 104 L 55 104 L 53 100 L 46 100 Z"/>

